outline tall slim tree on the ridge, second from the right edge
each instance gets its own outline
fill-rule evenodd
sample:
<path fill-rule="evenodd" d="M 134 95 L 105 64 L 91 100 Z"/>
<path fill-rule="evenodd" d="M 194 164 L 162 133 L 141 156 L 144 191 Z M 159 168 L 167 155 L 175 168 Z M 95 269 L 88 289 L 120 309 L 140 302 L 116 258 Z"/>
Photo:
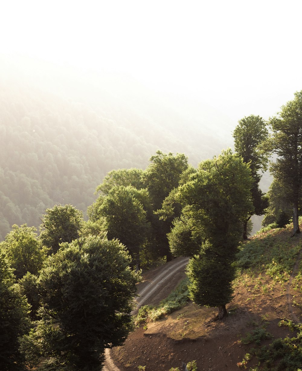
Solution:
<path fill-rule="evenodd" d="M 261 179 L 260 171 L 265 171 L 268 164 L 268 155 L 261 151 L 261 144 L 268 138 L 268 129 L 266 122 L 260 116 L 250 115 L 238 121 L 234 132 L 235 151 L 243 158 L 246 164 L 251 168 L 253 178 L 251 194 L 254 210 L 243 223 L 243 239 L 247 239 L 247 224 L 253 214 L 262 215 L 264 209 L 268 207 L 265 194 L 259 188 Z"/>

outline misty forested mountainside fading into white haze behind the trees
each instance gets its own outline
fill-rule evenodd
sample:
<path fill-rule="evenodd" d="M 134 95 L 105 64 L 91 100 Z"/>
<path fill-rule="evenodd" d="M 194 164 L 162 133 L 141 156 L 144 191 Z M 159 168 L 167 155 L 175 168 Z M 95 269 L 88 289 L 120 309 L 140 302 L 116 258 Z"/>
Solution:
<path fill-rule="evenodd" d="M 1 240 L 12 224 L 38 227 L 54 204 L 70 203 L 85 213 L 108 171 L 145 168 L 157 150 L 185 153 L 197 166 L 232 145 L 227 118 L 161 101 L 141 86 L 135 92 L 131 79 L 110 91 L 101 80 L 66 71 L 36 69 L 33 79 L 2 70 Z"/>

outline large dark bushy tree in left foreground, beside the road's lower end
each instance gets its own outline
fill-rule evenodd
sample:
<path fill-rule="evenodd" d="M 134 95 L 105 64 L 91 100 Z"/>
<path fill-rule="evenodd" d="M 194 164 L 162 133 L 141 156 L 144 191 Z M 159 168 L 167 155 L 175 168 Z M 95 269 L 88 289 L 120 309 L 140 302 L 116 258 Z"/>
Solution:
<path fill-rule="evenodd" d="M 32 363 L 51 357 L 56 369 L 100 370 L 105 348 L 121 345 L 132 328 L 138 276 L 130 262 L 117 240 L 93 236 L 48 257 L 39 279 L 43 319 L 26 338 Z"/>

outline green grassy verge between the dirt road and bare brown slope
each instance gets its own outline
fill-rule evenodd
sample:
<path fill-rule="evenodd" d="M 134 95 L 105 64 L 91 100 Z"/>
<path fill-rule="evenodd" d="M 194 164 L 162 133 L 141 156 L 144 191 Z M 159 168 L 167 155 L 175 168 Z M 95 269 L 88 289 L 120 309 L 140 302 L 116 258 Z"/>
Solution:
<path fill-rule="evenodd" d="M 147 321 L 156 321 L 168 313 L 177 311 L 185 306 L 189 300 L 188 278 L 183 279 L 176 288 L 162 300 L 158 306 L 144 305 L 138 310 L 138 314 L 134 319 L 135 325 Z"/>

